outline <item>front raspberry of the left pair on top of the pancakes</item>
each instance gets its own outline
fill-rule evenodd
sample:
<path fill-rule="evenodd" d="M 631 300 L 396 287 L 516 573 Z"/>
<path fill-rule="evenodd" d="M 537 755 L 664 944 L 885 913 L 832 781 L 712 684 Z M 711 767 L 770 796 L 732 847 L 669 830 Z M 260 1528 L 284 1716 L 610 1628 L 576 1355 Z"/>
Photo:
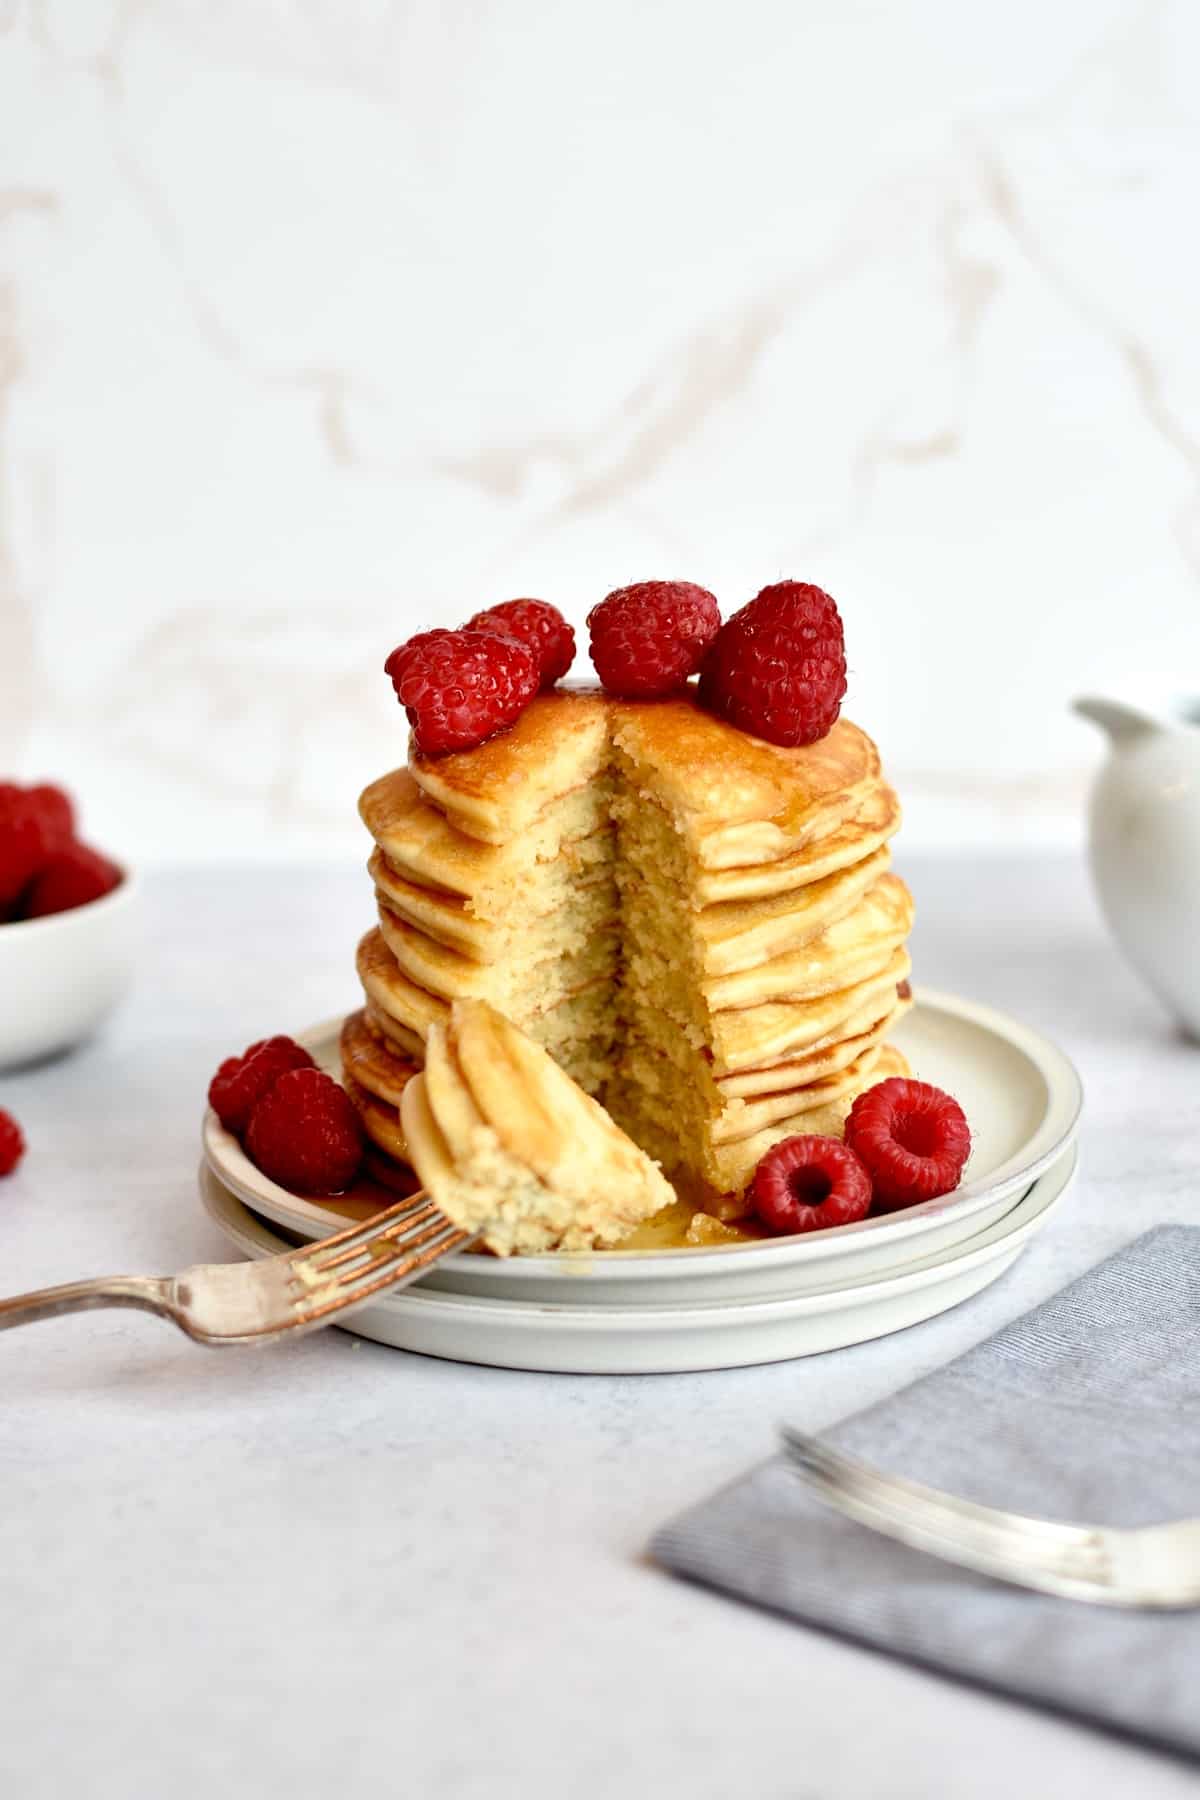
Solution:
<path fill-rule="evenodd" d="M 383 664 L 417 749 L 470 751 L 504 731 L 538 691 L 538 659 L 495 632 L 417 632 Z"/>

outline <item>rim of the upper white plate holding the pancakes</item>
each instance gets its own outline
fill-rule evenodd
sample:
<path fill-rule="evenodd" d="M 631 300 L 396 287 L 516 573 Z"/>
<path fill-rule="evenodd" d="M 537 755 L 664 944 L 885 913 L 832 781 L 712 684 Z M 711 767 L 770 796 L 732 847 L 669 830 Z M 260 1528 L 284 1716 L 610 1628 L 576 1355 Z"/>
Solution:
<path fill-rule="evenodd" d="M 1013 1019 L 1011 1013 L 1006 1013 L 997 1006 L 988 1006 L 982 1001 L 968 1001 L 943 988 L 918 985 L 914 988 L 914 1012 L 923 1008 L 948 1015 L 955 1021 L 964 1021 L 966 1024 L 973 1024 L 979 1030 L 988 1031 L 991 1037 L 999 1037 L 1002 1042 L 1016 1046 L 1016 1049 L 1020 1049 L 1020 1053 L 1033 1064 L 1045 1082 L 1047 1091 L 1043 1120 L 1029 1138 L 1029 1145 L 1038 1147 L 1034 1156 L 1027 1157 L 1024 1150 L 1018 1150 L 991 1172 L 986 1186 L 981 1186 L 975 1192 L 972 1192 L 972 1183 L 966 1183 L 964 1188 L 955 1188 L 950 1195 L 923 1201 L 921 1204 L 910 1206 L 901 1213 L 882 1213 L 874 1219 L 860 1219 L 856 1224 L 835 1226 L 829 1231 L 808 1235 L 797 1233 L 792 1237 L 752 1244 L 716 1244 L 640 1251 L 551 1251 L 538 1256 L 509 1256 L 502 1260 L 504 1278 L 516 1282 L 554 1280 L 560 1276 L 567 1280 L 653 1280 L 664 1278 L 664 1274 L 671 1269 L 687 1267 L 694 1269 L 698 1274 L 702 1269 L 712 1271 L 723 1262 L 734 1260 L 738 1267 L 747 1269 L 757 1267 L 766 1260 L 770 1260 L 774 1267 L 781 1267 L 781 1258 L 788 1258 L 788 1262 L 799 1258 L 804 1264 L 835 1260 L 840 1251 L 856 1244 L 865 1246 L 873 1240 L 887 1242 L 892 1238 L 919 1237 L 923 1226 L 939 1224 L 950 1211 L 966 1219 L 970 1213 L 982 1211 L 986 1206 L 1004 1199 L 1007 1192 L 1015 1192 L 1022 1183 L 1036 1183 L 1038 1177 L 1069 1148 L 1079 1129 L 1079 1118 L 1083 1114 L 1083 1082 L 1074 1062 L 1063 1049 L 1058 1048 L 1058 1044 L 1052 1042 L 1052 1039 L 1045 1037 L 1034 1026 L 1022 1024 L 1022 1021 Z M 345 1013 L 324 1019 L 320 1024 L 297 1031 L 295 1039 L 308 1049 L 327 1046 L 327 1042 L 336 1039 L 340 1033 L 344 1019 Z M 903 1024 L 900 1030 L 903 1030 Z M 1049 1141 L 1042 1143 L 1040 1139 Z M 205 1163 L 212 1168 L 218 1181 L 227 1186 L 236 1199 L 241 1199 L 250 1211 L 254 1211 L 255 1204 L 261 1204 L 263 1199 L 268 1199 L 270 1204 L 284 1208 L 297 1219 L 302 1219 L 309 1226 L 317 1228 L 322 1237 L 329 1233 L 335 1220 L 338 1226 L 345 1224 L 342 1213 L 326 1211 L 318 1202 L 290 1193 L 286 1188 L 281 1188 L 268 1175 L 257 1170 L 246 1157 L 237 1139 L 225 1130 L 212 1107 L 207 1107 L 203 1114 L 201 1147 Z M 461 1267 L 462 1262 L 466 1262 L 464 1256 L 450 1256 L 446 1258 L 446 1267 Z M 484 1258 L 473 1256 L 470 1262 L 471 1273 L 479 1274 L 480 1269 L 477 1265 L 484 1262 Z"/>

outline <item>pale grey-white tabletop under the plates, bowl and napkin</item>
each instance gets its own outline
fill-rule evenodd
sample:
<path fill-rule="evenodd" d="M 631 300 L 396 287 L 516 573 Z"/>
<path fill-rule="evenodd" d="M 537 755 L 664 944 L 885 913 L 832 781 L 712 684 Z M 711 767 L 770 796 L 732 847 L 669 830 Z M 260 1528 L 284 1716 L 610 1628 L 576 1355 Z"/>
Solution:
<path fill-rule="evenodd" d="M 1015 1271 L 907 1334 L 705 1375 L 509 1373 L 336 1330 L 216 1354 L 124 1312 L 0 1337 L 5 1795 L 1195 1795 L 1195 1769 L 644 1559 L 779 1418 L 819 1429 L 1200 1217 L 1200 1051 L 1110 950 L 1081 868 L 905 873 L 918 976 L 1045 1028 L 1087 1084 L 1083 1177 Z M 7 1291 L 227 1258 L 194 1188 L 209 1075 L 354 1001 L 367 914 L 349 868 L 149 882 L 121 1015 L 0 1076 L 31 1145 L 0 1184 Z"/>

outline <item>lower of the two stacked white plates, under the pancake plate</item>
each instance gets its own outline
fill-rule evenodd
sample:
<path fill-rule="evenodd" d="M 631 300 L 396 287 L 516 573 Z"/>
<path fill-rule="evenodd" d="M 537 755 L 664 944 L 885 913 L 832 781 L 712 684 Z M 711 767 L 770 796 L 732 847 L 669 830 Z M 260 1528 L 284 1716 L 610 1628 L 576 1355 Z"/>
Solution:
<path fill-rule="evenodd" d="M 840 1350 L 932 1319 L 999 1280 L 1060 1204 L 1076 1163 L 1078 1150 L 1067 1150 L 970 1247 L 927 1256 L 862 1287 L 752 1303 L 569 1307 L 444 1294 L 430 1291 L 426 1278 L 363 1307 L 344 1328 L 452 1363 L 565 1375 L 745 1368 Z M 200 1192 L 218 1228 L 250 1256 L 288 1247 L 212 1170 L 201 1170 Z"/>

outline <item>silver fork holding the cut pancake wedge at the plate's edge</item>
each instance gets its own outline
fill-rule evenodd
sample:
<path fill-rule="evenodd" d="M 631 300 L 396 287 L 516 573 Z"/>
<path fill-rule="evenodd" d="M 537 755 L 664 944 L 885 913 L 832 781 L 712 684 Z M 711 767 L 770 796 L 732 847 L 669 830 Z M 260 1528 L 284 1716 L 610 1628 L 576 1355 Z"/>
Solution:
<path fill-rule="evenodd" d="M 344 1319 L 473 1244 L 425 1193 L 363 1224 L 263 1262 L 198 1264 L 182 1274 L 113 1274 L 0 1300 L 0 1330 L 92 1307 L 137 1307 L 200 1345 L 264 1345 Z"/>

